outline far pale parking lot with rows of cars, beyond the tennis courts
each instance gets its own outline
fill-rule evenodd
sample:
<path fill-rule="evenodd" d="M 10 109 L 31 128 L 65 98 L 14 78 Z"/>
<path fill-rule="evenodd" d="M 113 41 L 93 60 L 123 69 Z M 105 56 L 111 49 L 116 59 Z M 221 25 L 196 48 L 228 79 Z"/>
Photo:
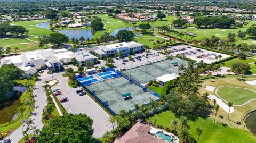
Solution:
<path fill-rule="evenodd" d="M 222 59 L 229 57 L 229 55 L 227 54 L 212 52 L 206 49 L 196 48 L 196 47 L 187 46 L 187 45 L 172 46 L 171 48 L 168 48 L 168 49 L 173 52 L 171 53 L 171 55 L 173 56 L 176 56 L 176 54 L 185 55 L 188 58 L 196 60 L 197 62 L 199 62 L 200 60 L 203 60 L 207 64 L 215 62 L 216 61 L 215 56 L 218 56 L 218 55 L 221 55 Z M 220 60 L 220 58 L 218 60 Z"/>

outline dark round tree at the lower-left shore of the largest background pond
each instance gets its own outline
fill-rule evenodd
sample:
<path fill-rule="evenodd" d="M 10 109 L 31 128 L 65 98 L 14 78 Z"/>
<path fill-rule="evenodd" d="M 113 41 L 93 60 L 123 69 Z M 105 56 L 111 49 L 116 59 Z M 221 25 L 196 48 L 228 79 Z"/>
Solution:
<path fill-rule="evenodd" d="M 52 33 L 48 37 L 48 40 L 50 41 L 50 43 L 57 44 L 59 47 L 63 43 L 68 43 L 69 38 L 68 36 L 62 33 Z"/>

